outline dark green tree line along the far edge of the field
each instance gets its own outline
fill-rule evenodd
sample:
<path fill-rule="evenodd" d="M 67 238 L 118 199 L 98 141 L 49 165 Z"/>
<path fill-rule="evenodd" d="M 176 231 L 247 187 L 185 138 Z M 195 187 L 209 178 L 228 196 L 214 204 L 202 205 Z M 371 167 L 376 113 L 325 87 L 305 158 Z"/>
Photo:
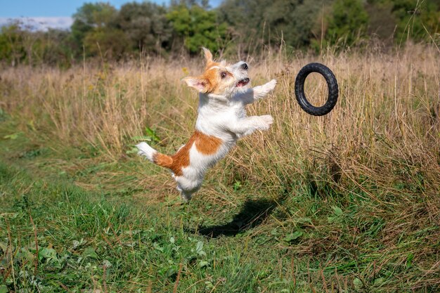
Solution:
<path fill-rule="evenodd" d="M 377 39 L 393 46 L 440 43 L 440 0 L 173 0 L 117 9 L 86 3 L 70 30 L 37 32 L 15 21 L 1 27 L 0 62 L 71 65 L 84 58 L 124 60 L 139 53 L 197 54 L 201 46 L 223 53 L 267 46 L 319 51 L 362 46 Z"/>

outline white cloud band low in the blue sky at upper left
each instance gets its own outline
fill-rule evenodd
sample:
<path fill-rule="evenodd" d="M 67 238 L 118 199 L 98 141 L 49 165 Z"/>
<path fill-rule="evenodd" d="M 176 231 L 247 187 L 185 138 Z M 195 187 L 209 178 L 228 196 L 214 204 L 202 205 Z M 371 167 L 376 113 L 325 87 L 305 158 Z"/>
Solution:
<path fill-rule="evenodd" d="M 0 26 L 18 20 L 30 30 L 46 31 L 49 28 L 68 30 L 73 23 L 70 17 L 32 17 L 32 18 L 0 18 Z"/>

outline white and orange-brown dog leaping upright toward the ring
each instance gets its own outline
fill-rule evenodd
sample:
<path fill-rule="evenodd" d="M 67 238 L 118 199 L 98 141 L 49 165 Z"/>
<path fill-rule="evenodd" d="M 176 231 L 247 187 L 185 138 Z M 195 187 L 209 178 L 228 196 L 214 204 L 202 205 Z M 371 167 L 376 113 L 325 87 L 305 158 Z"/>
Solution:
<path fill-rule="evenodd" d="M 276 79 L 252 88 L 247 63 L 216 62 L 207 48 L 202 50 L 206 60 L 205 72 L 183 79 L 199 92 L 193 136 L 172 156 L 157 152 L 144 142 L 136 145 L 138 155 L 172 171 L 176 189 L 185 202 L 200 189 L 207 169 L 225 157 L 239 138 L 256 130 L 267 130 L 273 123 L 271 115 L 247 117 L 245 106 L 273 91 Z"/>

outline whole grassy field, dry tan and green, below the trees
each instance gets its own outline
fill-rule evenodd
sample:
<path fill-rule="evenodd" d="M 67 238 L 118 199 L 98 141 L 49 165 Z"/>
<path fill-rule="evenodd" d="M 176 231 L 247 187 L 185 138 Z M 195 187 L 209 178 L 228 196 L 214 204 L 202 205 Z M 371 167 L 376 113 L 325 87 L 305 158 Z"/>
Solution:
<path fill-rule="evenodd" d="M 278 79 L 248 111 L 275 122 L 190 204 L 134 145 L 186 142 L 198 98 L 181 79 L 201 58 L 4 68 L 0 292 L 439 292 L 438 49 L 245 60 L 254 85 Z M 293 93 L 309 62 L 338 79 L 324 117 Z M 318 74 L 306 94 L 325 100 Z"/>

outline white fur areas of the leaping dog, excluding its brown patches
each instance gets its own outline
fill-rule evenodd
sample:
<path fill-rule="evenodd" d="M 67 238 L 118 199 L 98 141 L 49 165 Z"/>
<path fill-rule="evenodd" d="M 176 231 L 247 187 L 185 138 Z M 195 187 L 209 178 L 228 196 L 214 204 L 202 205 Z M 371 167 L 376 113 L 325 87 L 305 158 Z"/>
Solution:
<path fill-rule="evenodd" d="M 220 138 L 223 143 L 213 155 L 204 155 L 197 150 L 195 145 L 191 146 L 189 166 L 182 169 L 182 176 L 173 174 L 177 190 L 181 192 L 183 200 L 190 200 L 193 193 L 200 189 L 207 169 L 226 156 L 238 138 L 252 134 L 256 130 L 267 130 L 273 123 L 271 115 L 247 117 L 245 106 L 264 98 L 270 91 L 273 91 L 276 80 L 273 79 L 271 82 L 254 88 L 250 88 L 249 85 L 237 87 L 235 85 L 240 80 L 247 78 L 247 70 L 242 68 L 243 64 L 244 62 L 240 61 L 224 67 L 233 75 L 231 77 L 233 80 L 225 81 L 228 86 L 224 93 L 203 93 L 199 79 L 187 82 L 188 85 L 200 91 L 195 129 L 208 136 Z M 220 63 L 220 65 L 224 66 L 225 63 Z M 153 162 L 153 155 L 156 152 L 153 148 L 146 143 L 139 143 L 136 147 L 139 149 L 139 155 Z"/>

